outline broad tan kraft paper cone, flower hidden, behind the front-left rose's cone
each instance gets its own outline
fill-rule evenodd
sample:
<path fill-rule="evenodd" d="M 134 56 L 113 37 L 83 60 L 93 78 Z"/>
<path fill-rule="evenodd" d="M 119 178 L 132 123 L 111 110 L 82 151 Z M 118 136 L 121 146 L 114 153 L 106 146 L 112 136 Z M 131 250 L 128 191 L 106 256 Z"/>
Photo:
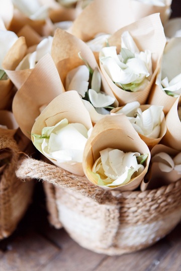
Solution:
<path fill-rule="evenodd" d="M 31 129 L 40 108 L 63 91 L 55 64 L 47 54 L 37 63 L 13 100 L 13 113 L 28 138 L 31 138 Z"/>

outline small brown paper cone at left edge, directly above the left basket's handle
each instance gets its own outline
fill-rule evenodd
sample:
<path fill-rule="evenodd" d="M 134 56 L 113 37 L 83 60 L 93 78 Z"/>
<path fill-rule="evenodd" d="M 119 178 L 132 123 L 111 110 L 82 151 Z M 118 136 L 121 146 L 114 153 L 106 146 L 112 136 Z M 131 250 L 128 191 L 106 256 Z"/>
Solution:
<path fill-rule="evenodd" d="M 0 110 L 0 125 L 7 127 L 2 128 L 0 126 L 0 136 L 7 135 L 13 137 L 19 127 L 13 113 L 9 110 Z"/>

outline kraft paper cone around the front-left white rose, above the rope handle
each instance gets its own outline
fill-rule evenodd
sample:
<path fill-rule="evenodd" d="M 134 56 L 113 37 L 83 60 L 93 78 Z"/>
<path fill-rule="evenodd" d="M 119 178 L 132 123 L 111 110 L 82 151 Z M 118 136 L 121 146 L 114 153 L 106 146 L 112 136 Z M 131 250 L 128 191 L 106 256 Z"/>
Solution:
<path fill-rule="evenodd" d="M 31 133 L 40 134 L 46 126 L 53 126 L 60 120 L 67 118 L 69 123 L 82 123 L 87 129 L 92 127 L 91 118 L 85 109 L 78 93 L 76 91 L 64 92 L 57 96 L 43 110 L 35 121 Z M 34 138 L 32 137 L 34 143 Z M 48 157 L 47 157 L 48 158 Z M 48 158 L 49 159 L 49 158 Z M 49 159 L 56 166 L 59 166 L 73 174 L 84 176 L 82 163 L 57 163 Z"/>

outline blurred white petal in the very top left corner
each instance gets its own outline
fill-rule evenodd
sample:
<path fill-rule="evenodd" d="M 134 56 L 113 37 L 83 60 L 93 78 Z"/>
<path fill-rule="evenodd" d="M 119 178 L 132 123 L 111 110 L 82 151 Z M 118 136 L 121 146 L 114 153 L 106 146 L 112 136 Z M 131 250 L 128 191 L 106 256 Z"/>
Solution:
<path fill-rule="evenodd" d="M 0 0 L 0 17 L 2 18 L 6 29 L 9 29 L 11 21 L 13 19 L 14 6 L 11 0 Z"/>

